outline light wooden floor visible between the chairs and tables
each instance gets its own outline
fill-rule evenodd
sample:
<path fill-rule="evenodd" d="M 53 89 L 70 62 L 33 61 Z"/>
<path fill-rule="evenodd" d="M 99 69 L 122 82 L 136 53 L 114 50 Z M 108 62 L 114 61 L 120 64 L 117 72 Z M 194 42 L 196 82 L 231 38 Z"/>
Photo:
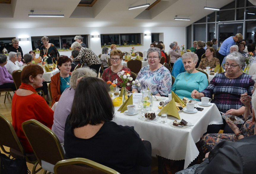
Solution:
<path fill-rule="evenodd" d="M 1 93 L 3 95 L 4 93 Z M 13 96 L 13 92 L 11 92 L 11 95 Z M 48 101 L 50 102 L 50 95 L 48 95 Z M 49 107 L 51 106 L 51 102 L 49 104 Z M 6 101 L 4 103 L 4 96 L 0 97 L 0 113 L 7 117 L 7 119 L 12 122 L 12 116 L 11 116 L 11 108 L 12 108 L 12 100 L 11 98 L 6 98 Z M 7 151 L 9 151 L 9 148 L 6 148 Z M 1 153 L 3 153 L 1 151 Z M 32 168 L 34 165 L 27 162 L 28 169 L 32 171 Z M 39 167 L 38 167 L 39 168 Z M 43 174 L 44 170 L 40 170 L 38 174 Z M 151 174 L 157 174 L 158 173 L 158 161 L 155 156 L 152 156 L 152 165 L 151 165 Z"/>

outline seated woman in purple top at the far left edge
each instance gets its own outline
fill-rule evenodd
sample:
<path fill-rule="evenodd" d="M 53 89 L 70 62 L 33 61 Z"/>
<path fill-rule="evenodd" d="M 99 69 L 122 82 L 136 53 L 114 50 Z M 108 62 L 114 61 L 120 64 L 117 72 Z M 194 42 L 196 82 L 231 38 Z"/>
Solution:
<path fill-rule="evenodd" d="M 12 75 L 10 75 L 5 68 L 7 60 L 6 55 L 0 55 L 0 89 L 12 88 L 16 90 Z"/>

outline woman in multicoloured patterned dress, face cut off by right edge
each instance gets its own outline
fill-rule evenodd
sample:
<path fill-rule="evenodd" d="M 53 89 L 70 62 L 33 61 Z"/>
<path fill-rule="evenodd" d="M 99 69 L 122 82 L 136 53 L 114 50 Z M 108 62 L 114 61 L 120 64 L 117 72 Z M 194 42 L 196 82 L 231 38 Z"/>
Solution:
<path fill-rule="evenodd" d="M 252 79 L 255 82 L 254 87 L 256 87 L 256 75 L 253 75 Z M 254 89 L 252 90 L 252 93 L 253 92 Z M 243 114 L 244 116 L 242 117 L 244 123 L 242 124 L 240 129 L 234 123 L 226 121 L 228 123 L 228 126 L 233 130 L 233 133 L 206 134 L 200 139 L 200 141 L 198 142 L 198 150 L 200 156 L 199 159 L 203 159 L 207 152 L 211 151 L 218 143 L 223 140 L 236 141 L 254 134 L 255 125 L 254 122 L 252 122 L 252 113 L 250 108 L 251 100 L 252 98 L 247 95 L 247 92 L 241 94 L 240 101 L 244 104 L 245 108 Z"/>

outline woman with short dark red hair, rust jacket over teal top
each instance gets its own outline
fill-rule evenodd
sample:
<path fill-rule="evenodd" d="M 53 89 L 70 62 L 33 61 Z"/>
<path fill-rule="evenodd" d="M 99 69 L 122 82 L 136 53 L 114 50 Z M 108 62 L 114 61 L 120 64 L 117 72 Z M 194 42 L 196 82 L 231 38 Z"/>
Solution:
<path fill-rule="evenodd" d="M 59 101 L 62 92 L 69 87 L 71 59 L 68 56 L 61 55 L 57 66 L 61 72 L 51 77 L 52 106 L 55 102 Z"/>

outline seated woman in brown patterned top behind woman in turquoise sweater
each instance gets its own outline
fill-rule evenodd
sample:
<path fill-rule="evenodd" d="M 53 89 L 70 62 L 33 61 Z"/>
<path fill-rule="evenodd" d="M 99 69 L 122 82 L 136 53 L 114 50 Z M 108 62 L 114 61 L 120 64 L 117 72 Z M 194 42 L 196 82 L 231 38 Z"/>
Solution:
<path fill-rule="evenodd" d="M 208 47 L 205 50 L 206 58 L 201 59 L 199 63 L 198 69 L 205 70 L 207 66 L 211 68 L 215 68 L 217 65 L 220 65 L 220 60 L 214 58 L 213 55 L 215 54 L 215 50 L 213 47 Z"/>

